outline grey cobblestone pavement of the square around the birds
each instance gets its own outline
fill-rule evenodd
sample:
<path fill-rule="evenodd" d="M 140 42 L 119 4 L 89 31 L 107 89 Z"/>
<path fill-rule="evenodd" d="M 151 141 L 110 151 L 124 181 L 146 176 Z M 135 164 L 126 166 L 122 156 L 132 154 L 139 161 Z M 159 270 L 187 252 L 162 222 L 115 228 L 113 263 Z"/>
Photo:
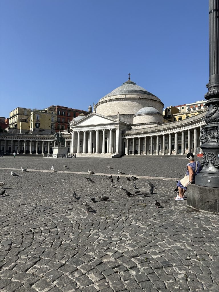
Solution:
<path fill-rule="evenodd" d="M 0 197 L 1 291 L 218 292 L 218 215 L 174 201 L 175 180 L 157 178 L 182 178 L 186 164 L 182 156 L 0 158 L 0 181 L 8 183 Z M 21 166 L 35 171 L 23 173 Z M 116 175 L 111 187 L 106 175 L 89 175 L 88 168 L 139 176 L 141 192 L 150 187 L 140 176 L 152 176 L 157 188 L 150 197 L 127 197 L 120 186 L 134 193 L 133 181 L 118 183 Z M 95 212 L 85 211 L 86 201 Z"/>

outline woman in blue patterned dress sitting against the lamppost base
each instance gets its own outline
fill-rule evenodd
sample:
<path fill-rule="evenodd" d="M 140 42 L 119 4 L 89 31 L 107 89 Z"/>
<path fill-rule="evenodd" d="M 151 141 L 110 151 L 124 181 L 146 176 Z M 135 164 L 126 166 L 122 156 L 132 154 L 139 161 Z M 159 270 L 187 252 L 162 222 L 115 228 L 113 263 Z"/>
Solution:
<path fill-rule="evenodd" d="M 176 201 L 182 201 L 185 199 L 184 194 L 187 190 L 187 185 L 191 183 L 195 183 L 195 176 L 201 171 L 201 164 L 199 161 L 194 160 L 194 155 L 192 153 L 188 153 L 186 155 L 186 159 L 188 159 L 190 162 L 187 164 L 187 172 L 186 175 L 189 175 L 189 182 L 186 184 L 186 187 L 183 187 L 183 185 L 180 183 L 180 180 L 177 183 L 179 194 L 174 199 Z"/>

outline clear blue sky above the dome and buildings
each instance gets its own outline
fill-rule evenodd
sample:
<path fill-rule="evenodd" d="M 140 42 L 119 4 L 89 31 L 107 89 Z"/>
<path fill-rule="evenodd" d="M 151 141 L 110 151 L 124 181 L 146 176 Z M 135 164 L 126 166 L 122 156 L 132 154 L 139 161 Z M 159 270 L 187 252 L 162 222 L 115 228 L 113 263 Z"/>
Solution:
<path fill-rule="evenodd" d="M 1 0 L 0 116 L 87 110 L 131 80 L 165 104 L 204 100 L 208 0 Z"/>

